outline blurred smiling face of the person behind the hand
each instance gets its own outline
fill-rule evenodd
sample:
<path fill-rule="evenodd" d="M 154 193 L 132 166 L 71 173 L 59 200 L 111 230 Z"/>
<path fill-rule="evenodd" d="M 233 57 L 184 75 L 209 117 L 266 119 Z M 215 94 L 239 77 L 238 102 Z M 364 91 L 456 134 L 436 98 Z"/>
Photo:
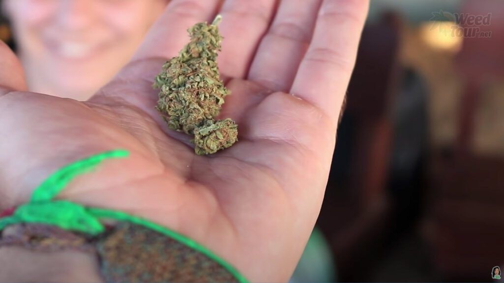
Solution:
<path fill-rule="evenodd" d="M 89 93 L 106 83 L 128 62 L 168 2 L 4 1 L 30 87 L 55 88 L 60 93 L 51 94 L 59 96 Z"/>

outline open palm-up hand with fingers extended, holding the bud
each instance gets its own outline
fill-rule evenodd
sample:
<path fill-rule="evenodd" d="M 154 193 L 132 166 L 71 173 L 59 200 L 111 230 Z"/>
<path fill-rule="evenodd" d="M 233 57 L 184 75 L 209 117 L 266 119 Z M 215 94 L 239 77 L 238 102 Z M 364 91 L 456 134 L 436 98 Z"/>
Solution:
<path fill-rule="evenodd" d="M 221 5 L 222 4 L 222 5 Z M 51 172 L 123 148 L 61 198 L 127 211 L 199 241 L 251 281 L 287 281 L 319 215 L 366 0 L 173 0 L 132 61 L 88 102 L 27 92 L 0 45 L 0 208 Z M 222 116 L 239 141 L 197 156 L 166 128 L 151 88 L 186 29 L 223 16 Z M 1 267 L 0 267 L 1 268 Z"/>

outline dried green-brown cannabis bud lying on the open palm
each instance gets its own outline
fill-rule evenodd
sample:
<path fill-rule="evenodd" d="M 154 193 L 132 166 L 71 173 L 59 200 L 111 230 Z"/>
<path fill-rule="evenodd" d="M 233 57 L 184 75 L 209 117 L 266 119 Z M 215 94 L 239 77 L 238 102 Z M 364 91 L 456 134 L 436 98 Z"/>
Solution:
<path fill-rule="evenodd" d="M 217 25 L 221 19 L 217 16 L 211 25 L 199 23 L 190 28 L 191 41 L 163 65 L 153 85 L 160 89 L 156 108 L 168 127 L 194 135 L 199 155 L 230 147 L 238 136 L 233 120 L 215 121 L 230 93 L 217 67 L 222 41 Z"/>

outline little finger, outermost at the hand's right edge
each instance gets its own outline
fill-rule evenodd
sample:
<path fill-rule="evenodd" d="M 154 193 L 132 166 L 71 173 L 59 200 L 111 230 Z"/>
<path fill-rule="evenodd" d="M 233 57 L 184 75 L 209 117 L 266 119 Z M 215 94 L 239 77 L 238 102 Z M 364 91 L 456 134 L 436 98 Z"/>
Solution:
<path fill-rule="evenodd" d="M 324 0 L 313 39 L 290 92 L 337 121 L 350 80 L 368 0 Z"/>

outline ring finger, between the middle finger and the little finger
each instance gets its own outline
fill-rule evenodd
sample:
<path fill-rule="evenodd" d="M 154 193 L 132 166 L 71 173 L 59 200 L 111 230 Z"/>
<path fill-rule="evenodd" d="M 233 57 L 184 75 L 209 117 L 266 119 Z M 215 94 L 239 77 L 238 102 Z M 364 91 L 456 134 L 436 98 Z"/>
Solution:
<path fill-rule="evenodd" d="M 308 48 L 322 0 L 284 0 L 263 38 L 248 79 L 289 91 Z"/>

